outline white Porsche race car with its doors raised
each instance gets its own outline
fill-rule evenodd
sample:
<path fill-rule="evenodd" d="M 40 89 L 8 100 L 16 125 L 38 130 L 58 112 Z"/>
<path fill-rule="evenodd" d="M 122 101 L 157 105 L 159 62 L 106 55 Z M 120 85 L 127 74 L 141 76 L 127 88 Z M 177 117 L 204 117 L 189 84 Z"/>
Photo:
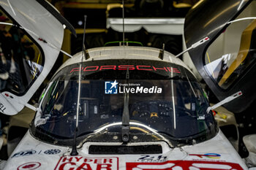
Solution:
<path fill-rule="evenodd" d="M 200 58 L 214 34 L 249 2 L 225 0 L 230 8 L 222 22 L 217 2 L 200 1 L 193 7 L 190 17 L 209 3 L 216 6 L 219 16 L 204 15 L 197 25 L 207 19 L 211 28 L 211 22 L 222 28 L 214 29 L 218 33 L 207 33 L 208 25 L 205 31 L 193 29 L 188 18 L 185 38 L 192 58 L 195 53 Z M 15 115 L 24 106 L 36 110 L 2 169 L 248 169 L 219 130 L 193 73 L 165 50 L 120 46 L 83 51 L 59 68 L 37 108 L 27 104 L 56 61 L 63 25 L 73 29 L 46 1 L 1 0 L 0 5 L 39 45 L 44 58 L 41 67 L 34 63 L 36 73 L 25 90 L 1 90 L 1 112 Z"/>

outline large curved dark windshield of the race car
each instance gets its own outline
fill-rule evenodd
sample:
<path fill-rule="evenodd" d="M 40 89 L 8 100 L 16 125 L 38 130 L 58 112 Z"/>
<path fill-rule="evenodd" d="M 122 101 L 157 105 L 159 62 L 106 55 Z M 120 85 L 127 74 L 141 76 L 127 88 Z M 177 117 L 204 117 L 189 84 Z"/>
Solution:
<path fill-rule="evenodd" d="M 65 68 L 69 70 L 69 74 L 63 74 L 64 69 L 63 73 L 59 73 L 50 82 L 42 95 L 40 111 L 34 119 L 37 130 L 55 139 L 72 139 L 75 131 L 79 82 L 78 75 L 70 71 L 72 68 Z M 78 107 L 78 137 L 89 134 L 121 134 L 125 104 L 129 108 L 130 133 L 144 135 L 136 142 L 212 136 L 216 131 L 216 124 L 213 115 L 206 113 L 208 101 L 203 90 L 194 79 L 191 81 L 190 72 L 181 66 L 175 68 L 176 71 L 171 72 L 168 77 L 158 74 L 157 80 L 146 79 L 145 76 L 138 79 L 140 74 L 136 70 L 120 71 L 120 74 L 129 72 L 129 79 L 118 79 L 114 74 L 108 74 L 116 78 L 111 80 L 87 79 L 86 77 L 92 77 L 91 74 L 83 76 Z M 102 75 L 99 72 L 93 75 L 99 77 L 99 74 Z M 126 103 L 124 97 L 128 93 L 129 101 Z M 150 135 L 145 137 L 148 134 Z M 159 137 L 159 134 L 162 135 Z M 91 137 L 91 140 L 102 140 L 101 136 Z M 112 141 L 106 138 L 104 140 Z"/>

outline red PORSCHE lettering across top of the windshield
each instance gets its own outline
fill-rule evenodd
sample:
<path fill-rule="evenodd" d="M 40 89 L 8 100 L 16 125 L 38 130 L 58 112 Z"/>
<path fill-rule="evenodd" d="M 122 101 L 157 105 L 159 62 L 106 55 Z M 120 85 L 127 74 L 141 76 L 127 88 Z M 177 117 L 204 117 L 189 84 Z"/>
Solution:
<path fill-rule="evenodd" d="M 151 71 L 151 72 L 173 72 L 173 73 L 181 73 L 177 68 L 174 67 L 156 67 L 156 66 L 135 66 L 135 65 L 119 65 L 119 66 L 86 66 L 82 67 L 82 72 L 96 72 L 103 70 L 143 70 L 143 71 Z M 72 72 L 80 72 L 80 67 L 72 68 L 70 73 Z"/>

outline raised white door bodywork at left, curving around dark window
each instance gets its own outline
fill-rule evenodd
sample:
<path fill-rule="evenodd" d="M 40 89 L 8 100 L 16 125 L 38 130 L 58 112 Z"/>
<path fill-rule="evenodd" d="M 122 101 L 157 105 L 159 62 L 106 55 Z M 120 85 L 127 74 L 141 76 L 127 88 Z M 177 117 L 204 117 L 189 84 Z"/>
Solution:
<path fill-rule="evenodd" d="M 1 111 L 6 115 L 15 115 L 23 109 L 53 67 L 62 45 L 64 28 L 59 20 L 35 0 L 1 0 L 0 5 L 11 18 L 27 29 L 26 32 L 42 48 L 45 57 L 41 74 L 23 96 L 15 96 L 7 91 L 0 94 Z M 45 39 L 55 48 L 40 41 L 39 38 Z"/>

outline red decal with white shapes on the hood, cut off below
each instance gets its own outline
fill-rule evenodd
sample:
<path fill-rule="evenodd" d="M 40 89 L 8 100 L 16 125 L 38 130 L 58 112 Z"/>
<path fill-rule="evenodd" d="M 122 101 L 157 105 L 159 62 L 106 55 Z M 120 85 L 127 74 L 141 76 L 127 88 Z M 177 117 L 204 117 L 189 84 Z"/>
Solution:
<path fill-rule="evenodd" d="M 209 162 L 209 161 L 165 161 L 162 163 L 127 163 L 127 170 L 211 170 L 211 169 L 236 169 L 243 170 L 238 163 Z"/>

